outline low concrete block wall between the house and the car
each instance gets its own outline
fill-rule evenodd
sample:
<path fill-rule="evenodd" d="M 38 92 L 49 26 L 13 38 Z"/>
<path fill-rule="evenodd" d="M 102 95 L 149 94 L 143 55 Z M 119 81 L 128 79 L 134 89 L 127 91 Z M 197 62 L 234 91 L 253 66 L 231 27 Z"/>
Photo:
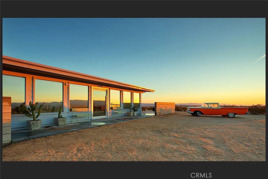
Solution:
<path fill-rule="evenodd" d="M 175 112 L 175 103 L 155 102 L 154 108 L 156 116 L 170 114 Z"/>

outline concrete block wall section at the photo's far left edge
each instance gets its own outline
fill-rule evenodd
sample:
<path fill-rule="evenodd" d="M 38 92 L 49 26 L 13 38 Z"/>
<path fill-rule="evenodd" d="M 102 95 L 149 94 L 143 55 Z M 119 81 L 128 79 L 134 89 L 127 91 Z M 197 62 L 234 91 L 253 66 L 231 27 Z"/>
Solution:
<path fill-rule="evenodd" d="M 11 143 L 11 97 L 3 97 L 2 144 Z"/>

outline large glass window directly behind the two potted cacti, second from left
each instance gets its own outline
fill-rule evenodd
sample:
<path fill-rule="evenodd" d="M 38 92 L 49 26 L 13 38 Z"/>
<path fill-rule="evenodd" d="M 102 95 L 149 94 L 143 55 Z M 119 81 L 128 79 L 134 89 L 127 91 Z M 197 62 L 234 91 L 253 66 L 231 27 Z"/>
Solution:
<path fill-rule="evenodd" d="M 35 80 L 35 103 L 36 112 L 38 112 L 40 104 L 45 104 L 42 107 L 41 113 L 59 112 L 59 108 L 62 106 L 62 82 Z"/>

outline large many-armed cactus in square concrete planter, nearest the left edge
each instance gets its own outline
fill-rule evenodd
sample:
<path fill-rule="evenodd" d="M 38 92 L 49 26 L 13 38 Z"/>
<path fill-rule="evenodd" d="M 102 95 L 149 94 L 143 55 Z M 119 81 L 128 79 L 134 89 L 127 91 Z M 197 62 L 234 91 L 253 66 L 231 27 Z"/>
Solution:
<path fill-rule="evenodd" d="M 25 114 L 27 117 L 32 118 L 33 120 L 27 120 L 27 125 L 29 130 L 36 130 L 41 128 L 42 120 L 37 119 L 42 111 L 42 106 L 45 104 L 40 104 L 38 114 L 35 116 L 35 109 L 38 105 L 38 102 L 33 103 L 30 101 L 29 108 L 26 107 L 25 104 L 22 104 L 22 107 L 19 107 L 18 110 Z"/>

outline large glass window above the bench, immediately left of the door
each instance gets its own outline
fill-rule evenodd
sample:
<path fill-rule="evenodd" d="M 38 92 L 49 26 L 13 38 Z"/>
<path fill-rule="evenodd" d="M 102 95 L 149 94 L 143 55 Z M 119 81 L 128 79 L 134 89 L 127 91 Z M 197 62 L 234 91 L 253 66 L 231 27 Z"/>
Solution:
<path fill-rule="evenodd" d="M 72 108 L 88 108 L 88 86 L 70 84 L 70 111 Z"/>

